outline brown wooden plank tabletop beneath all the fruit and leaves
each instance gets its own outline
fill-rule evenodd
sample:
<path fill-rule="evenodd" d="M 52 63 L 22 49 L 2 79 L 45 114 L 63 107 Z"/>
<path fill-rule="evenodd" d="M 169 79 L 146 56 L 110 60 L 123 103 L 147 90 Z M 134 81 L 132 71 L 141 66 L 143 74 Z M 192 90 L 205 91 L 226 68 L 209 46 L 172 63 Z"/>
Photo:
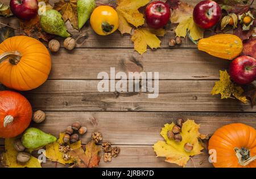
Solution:
<path fill-rule="evenodd" d="M 185 2 L 195 5 L 199 0 Z M 0 18 L 0 22 L 19 28 L 18 20 L 13 17 Z M 200 123 L 203 134 L 212 134 L 218 127 L 233 122 L 256 127 L 255 108 L 234 99 L 221 100 L 220 96 L 210 95 L 219 70 L 227 69 L 230 61 L 200 52 L 187 38 L 180 46 L 168 47 L 168 40 L 175 37 L 176 24 L 167 25 L 166 35 L 160 37 L 160 49 L 148 49 L 143 56 L 134 52 L 128 35 L 115 32 L 97 36 L 89 23 L 81 32 L 67 25 L 74 39 L 86 34 L 85 40 L 68 51 L 63 48 L 63 39 L 57 37 L 61 49 L 52 53 L 49 79 L 41 87 L 21 93 L 30 100 L 34 110 L 46 111 L 47 120 L 41 124 L 32 122 L 32 126 L 57 136 L 78 120 L 88 127 L 82 143 L 90 140 L 90 133 L 100 131 L 104 140 L 121 147 L 119 157 L 111 163 L 101 161 L 100 167 L 177 167 L 156 158 L 152 145 L 162 140 L 159 133 L 163 125 L 179 117 Z M 209 35 L 210 32 L 205 33 Z M 158 71 L 159 97 L 148 99 L 148 93 L 143 92 L 98 92 L 97 74 L 109 73 L 110 67 L 126 73 Z M 0 86 L 0 90 L 6 88 Z M 2 151 L 3 144 L 4 140 L 0 139 Z M 212 167 L 206 153 L 193 157 L 187 167 Z M 47 162 L 43 167 L 64 166 Z"/>

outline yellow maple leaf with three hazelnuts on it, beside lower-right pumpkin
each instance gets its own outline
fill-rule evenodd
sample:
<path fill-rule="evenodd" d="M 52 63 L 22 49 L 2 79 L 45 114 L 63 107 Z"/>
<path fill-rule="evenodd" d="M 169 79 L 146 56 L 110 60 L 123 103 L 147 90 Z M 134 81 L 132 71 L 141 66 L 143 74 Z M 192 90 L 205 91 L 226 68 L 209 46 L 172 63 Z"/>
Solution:
<path fill-rule="evenodd" d="M 168 163 L 175 163 L 185 167 L 189 157 L 201 154 L 201 150 L 204 148 L 198 140 L 200 137 L 200 125 L 197 125 L 193 120 L 187 120 L 184 122 L 180 132 L 180 135 L 182 136 L 181 142 L 175 142 L 175 140 L 171 140 L 167 137 L 167 132 L 172 131 L 172 127 L 174 127 L 174 125 L 175 124 L 173 122 L 171 124 L 166 123 L 166 125 L 164 125 L 160 134 L 166 141 L 156 142 L 153 146 L 154 151 L 157 156 L 166 157 L 166 161 Z M 193 145 L 191 152 L 184 150 L 185 143 L 191 143 Z"/>

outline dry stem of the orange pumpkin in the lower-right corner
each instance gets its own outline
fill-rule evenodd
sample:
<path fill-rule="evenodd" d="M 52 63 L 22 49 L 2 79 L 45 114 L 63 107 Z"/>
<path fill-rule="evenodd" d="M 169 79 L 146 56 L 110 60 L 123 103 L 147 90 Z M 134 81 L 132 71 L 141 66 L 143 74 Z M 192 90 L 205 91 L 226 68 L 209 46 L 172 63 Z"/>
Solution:
<path fill-rule="evenodd" d="M 238 163 L 242 165 L 243 167 L 251 163 L 256 159 L 256 156 L 251 157 L 250 156 L 250 150 L 247 150 L 246 148 L 234 148 L 234 151 L 236 152 L 236 156 L 238 158 Z"/>

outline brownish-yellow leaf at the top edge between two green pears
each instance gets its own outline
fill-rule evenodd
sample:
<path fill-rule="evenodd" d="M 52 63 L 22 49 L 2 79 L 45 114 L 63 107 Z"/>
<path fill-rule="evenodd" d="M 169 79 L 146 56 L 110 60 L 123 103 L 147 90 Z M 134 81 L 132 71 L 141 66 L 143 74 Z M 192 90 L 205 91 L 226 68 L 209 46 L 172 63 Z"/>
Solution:
<path fill-rule="evenodd" d="M 69 20 L 73 28 L 79 29 L 77 19 L 77 0 L 60 0 L 59 2 L 55 3 L 53 9 L 60 12 L 64 22 Z"/>

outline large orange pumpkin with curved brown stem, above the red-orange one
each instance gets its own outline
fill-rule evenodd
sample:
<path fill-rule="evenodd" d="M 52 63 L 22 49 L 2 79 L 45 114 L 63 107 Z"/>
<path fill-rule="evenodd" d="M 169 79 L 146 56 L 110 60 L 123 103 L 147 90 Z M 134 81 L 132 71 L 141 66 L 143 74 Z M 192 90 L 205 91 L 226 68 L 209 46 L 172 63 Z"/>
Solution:
<path fill-rule="evenodd" d="M 32 90 L 46 82 L 51 56 L 42 42 L 15 36 L 0 44 L 0 83 L 19 91 Z"/>

